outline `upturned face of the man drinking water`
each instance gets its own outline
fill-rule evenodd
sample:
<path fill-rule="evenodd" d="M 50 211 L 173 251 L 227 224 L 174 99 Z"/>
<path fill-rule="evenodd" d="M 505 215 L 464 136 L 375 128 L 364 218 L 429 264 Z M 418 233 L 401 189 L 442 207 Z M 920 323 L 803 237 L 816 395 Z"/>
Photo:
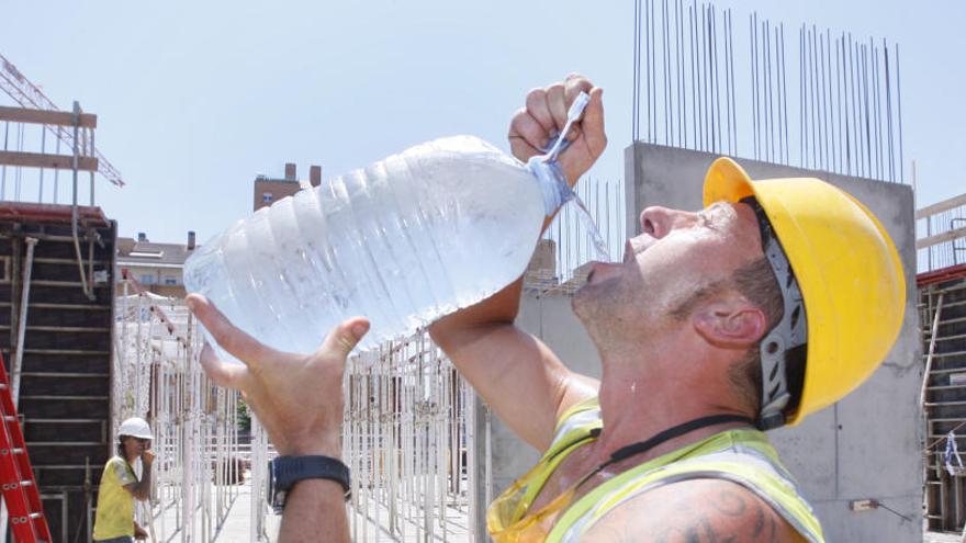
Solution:
<path fill-rule="evenodd" d="M 719 202 L 697 213 L 648 207 L 640 222 L 624 261 L 594 264 L 574 296 L 595 340 L 665 331 L 696 292 L 762 257 L 757 219 L 745 204 Z"/>

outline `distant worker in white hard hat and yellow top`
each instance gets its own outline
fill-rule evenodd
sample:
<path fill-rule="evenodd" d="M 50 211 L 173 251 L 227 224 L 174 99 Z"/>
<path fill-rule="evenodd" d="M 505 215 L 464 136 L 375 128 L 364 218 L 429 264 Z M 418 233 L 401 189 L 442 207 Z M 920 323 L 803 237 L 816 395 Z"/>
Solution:
<path fill-rule="evenodd" d="M 104 465 L 98 487 L 94 541 L 131 543 L 147 539 L 147 532 L 134 520 L 134 500 L 145 501 L 150 497 L 153 439 L 147 421 L 138 417 L 125 420 L 117 428 L 117 454 Z M 139 480 L 134 473 L 137 459 L 142 465 Z"/>

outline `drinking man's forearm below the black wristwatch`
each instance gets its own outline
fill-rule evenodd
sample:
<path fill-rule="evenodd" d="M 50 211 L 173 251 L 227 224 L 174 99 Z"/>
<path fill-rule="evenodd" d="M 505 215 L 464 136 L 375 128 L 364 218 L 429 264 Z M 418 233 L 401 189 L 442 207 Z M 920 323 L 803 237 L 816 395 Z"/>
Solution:
<path fill-rule="evenodd" d="M 341 485 L 328 479 L 299 482 L 285 499 L 279 543 L 349 542 Z"/>

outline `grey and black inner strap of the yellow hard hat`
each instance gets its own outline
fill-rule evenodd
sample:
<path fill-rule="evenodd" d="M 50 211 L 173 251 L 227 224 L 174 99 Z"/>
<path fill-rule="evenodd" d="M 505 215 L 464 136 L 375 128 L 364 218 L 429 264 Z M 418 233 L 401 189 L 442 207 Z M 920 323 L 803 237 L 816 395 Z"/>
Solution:
<path fill-rule="evenodd" d="M 788 367 L 793 357 L 800 355 L 801 348 L 808 343 L 808 327 L 801 290 L 768 216 L 754 197 L 742 199 L 741 202 L 755 212 L 762 235 L 762 251 L 775 273 L 785 306 L 782 320 L 762 338 L 760 346 L 762 407 L 756 426 L 761 430 L 771 430 L 784 426 L 787 420 L 786 410 L 791 403 Z"/>

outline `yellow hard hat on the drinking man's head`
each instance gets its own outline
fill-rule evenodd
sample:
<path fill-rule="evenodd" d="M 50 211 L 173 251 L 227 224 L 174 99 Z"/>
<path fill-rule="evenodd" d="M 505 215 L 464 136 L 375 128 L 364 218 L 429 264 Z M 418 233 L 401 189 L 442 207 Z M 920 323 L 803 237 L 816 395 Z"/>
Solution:
<path fill-rule="evenodd" d="M 796 425 L 855 389 L 891 349 L 906 309 L 902 262 L 875 215 L 819 179 L 752 181 L 733 160 L 719 158 L 704 192 L 705 206 L 753 196 L 797 280 L 807 328 L 805 373 L 797 406 L 790 403 L 782 416 Z M 789 294 L 780 276 L 779 283 L 787 319 Z M 763 373 L 767 400 L 770 375 Z"/>

